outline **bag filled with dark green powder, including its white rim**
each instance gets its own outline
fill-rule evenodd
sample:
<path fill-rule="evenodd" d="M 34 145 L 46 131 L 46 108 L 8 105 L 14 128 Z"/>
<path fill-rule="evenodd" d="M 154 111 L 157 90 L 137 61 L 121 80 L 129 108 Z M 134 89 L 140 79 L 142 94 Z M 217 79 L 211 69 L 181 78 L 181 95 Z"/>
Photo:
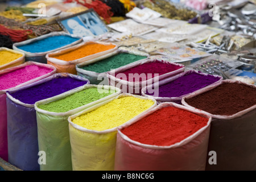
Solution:
<path fill-rule="evenodd" d="M 117 49 L 96 59 L 76 65 L 77 75 L 88 78 L 91 84 L 108 84 L 106 73 L 139 60 L 148 59 L 148 53 L 130 52 Z M 102 84 L 101 84 L 102 85 Z"/>

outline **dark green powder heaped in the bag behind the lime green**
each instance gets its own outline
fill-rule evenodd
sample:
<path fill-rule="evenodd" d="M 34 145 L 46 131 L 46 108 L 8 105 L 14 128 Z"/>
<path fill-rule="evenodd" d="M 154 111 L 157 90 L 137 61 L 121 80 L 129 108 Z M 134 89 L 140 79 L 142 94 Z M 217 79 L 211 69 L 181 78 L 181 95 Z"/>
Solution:
<path fill-rule="evenodd" d="M 97 61 L 96 63 L 85 65 L 82 67 L 82 69 L 96 73 L 104 73 L 110 71 L 111 69 L 119 68 L 146 58 L 147 56 L 133 55 L 130 53 L 118 53 L 117 55 Z"/>

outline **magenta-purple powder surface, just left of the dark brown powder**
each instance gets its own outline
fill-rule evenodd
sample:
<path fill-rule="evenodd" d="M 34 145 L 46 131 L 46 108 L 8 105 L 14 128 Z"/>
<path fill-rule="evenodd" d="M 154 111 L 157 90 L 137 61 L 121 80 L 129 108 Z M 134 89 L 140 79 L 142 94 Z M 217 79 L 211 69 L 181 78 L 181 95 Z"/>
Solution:
<path fill-rule="evenodd" d="M 219 80 L 220 77 L 213 75 L 200 75 L 199 73 L 188 72 L 174 81 L 160 85 L 158 97 L 180 97 L 195 92 Z M 147 94 L 153 95 L 154 93 L 147 92 Z"/>

